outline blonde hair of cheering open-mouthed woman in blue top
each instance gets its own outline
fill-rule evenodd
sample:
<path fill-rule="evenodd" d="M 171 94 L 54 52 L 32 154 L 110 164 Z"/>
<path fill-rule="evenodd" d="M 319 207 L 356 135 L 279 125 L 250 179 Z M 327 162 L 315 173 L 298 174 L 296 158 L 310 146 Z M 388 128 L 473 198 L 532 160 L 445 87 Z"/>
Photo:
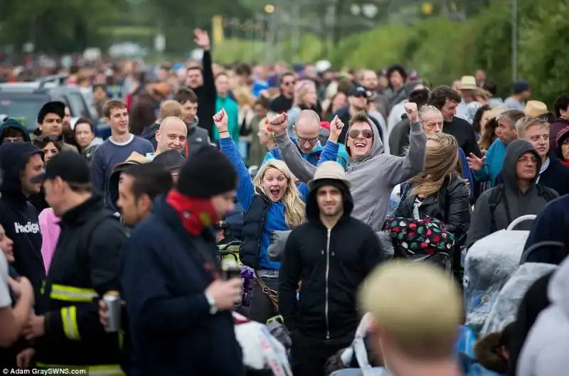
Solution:
<path fill-rule="evenodd" d="M 285 195 L 282 196 L 282 203 L 285 204 L 285 222 L 290 228 L 297 227 L 304 222 L 306 205 L 304 205 L 304 201 L 300 198 L 298 188 L 292 178 L 292 173 L 285 162 L 279 161 L 278 159 L 270 159 L 267 161 L 267 163 L 261 166 L 259 172 L 257 172 L 257 176 L 253 179 L 253 186 L 255 186 L 255 190 L 259 190 L 268 196 L 268 192 L 262 186 L 262 179 L 265 178 L 265 173 L 269 168 L 276 168 L 287 178 L 287 190 L 285 191 Z"/>

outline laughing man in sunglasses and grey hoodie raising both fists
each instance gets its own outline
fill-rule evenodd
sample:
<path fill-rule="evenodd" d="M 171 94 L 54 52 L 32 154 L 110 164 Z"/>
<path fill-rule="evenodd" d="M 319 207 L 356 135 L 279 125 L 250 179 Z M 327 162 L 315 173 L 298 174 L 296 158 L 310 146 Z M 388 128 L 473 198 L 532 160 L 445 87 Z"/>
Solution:
<path fill-rule="evenodd" d="M 383 153 L 383 143 L 377 127 L 370 124 L 364 112 L 352 117 L 346 134 L 346 177 L 351 184 L 354 203 L 352 216 L 376 231 L 381 230 L 383 225 L 393 187 L 417 175 L 425 166 L 427 138 L 419 122 L 417 104 L 405 103 L 405 111 L 411 122 L 407 156 Z M 303 182 L 311 180 L 316 166 L 302 159 L 297 147 L 287 135 L 286 116 L 277 115 L 271 120 L 271 126 L 282 159 L 294 176 Z"/>

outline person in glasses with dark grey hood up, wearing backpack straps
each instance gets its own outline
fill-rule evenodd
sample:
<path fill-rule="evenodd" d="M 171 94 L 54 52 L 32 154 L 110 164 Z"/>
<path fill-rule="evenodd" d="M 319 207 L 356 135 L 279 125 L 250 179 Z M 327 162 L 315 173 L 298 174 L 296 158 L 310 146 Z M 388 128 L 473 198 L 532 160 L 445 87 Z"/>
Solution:
<path fill-rule="evenodd" d="M 477 200 L 470 221 L 467 245 L 496 231 L 503 230 L 517 217 L 538 214 L 558 194 L 536 183 L 541 158 L 528 141 L 517 139 L 506 148 L 501 175 L 504 183 L 486 190 Z M 519 230 L 531 224 L 521 223 Z"/>

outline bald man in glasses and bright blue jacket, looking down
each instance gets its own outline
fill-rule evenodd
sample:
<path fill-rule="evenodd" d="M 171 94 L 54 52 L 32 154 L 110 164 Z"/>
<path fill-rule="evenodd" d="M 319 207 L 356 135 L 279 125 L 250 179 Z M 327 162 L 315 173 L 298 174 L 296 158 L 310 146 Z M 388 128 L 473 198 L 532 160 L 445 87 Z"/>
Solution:
<path fill-rule="evenodd" d="M 292 142 L 297 145 L 300 154 L 312 166 L 317 166 L 324 149 L 318 139 L 320 131 L 320 117 L 312 109 L 304 109 L 300 112 L 297 123 L 292 127 L 294 136 L 291 137 Z M 279 159 L 282 161 L 278 147 L 270 149 L 262 162 L 265 164 L 269 159 Z M 348 154 L 344 145 L 340 144 L 338 150 L 338 163 L 346 168 Z"/>

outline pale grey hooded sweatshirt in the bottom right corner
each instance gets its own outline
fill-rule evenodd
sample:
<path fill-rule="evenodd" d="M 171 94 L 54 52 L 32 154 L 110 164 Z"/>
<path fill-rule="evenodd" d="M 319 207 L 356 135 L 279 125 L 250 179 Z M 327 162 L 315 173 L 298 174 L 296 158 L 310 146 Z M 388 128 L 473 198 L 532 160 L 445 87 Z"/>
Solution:
<path fill-rule="evenodd" d="M 560 376 L 569 369 L 569 258 L 551 277 L 551 305 L 541 312 L 518 360 L 518 376 Z"/>

